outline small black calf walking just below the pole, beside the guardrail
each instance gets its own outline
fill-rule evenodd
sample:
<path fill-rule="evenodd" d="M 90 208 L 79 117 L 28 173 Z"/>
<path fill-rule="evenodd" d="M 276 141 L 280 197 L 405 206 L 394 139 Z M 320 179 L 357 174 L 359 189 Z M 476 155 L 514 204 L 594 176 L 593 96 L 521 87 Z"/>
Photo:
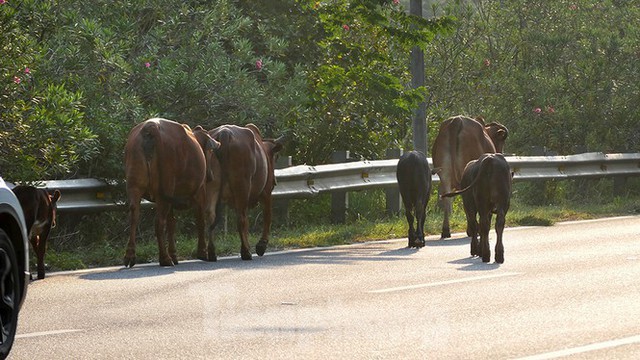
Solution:
<path fill-rule="evenodd" d="M 409 151 L 398 160 L 396 179 L 405 215 L 409 223 L 409 247 L 424 246 L 424 221 L 431 193 L 431 170 L 427 157 L 419 151 Z M 416 218 L 416 227 L 413 219 Z"/>

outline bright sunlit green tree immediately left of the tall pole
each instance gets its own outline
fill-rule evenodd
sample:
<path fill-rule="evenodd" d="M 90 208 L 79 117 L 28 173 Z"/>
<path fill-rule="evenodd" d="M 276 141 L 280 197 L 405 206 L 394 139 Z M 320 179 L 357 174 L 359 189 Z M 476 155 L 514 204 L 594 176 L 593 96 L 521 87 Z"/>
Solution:
<path fill-rule="evenodd" d="M 325 162 L 334 150 L 373 159 L 410 143 L 411 112 L 424 88 L 410 89 L 411 47 L 447 25 L 407 15 L 397 1 L 307 1 L 319 55 L 308 68 L 310 102 L 298 114 L 297 157 Z"/>

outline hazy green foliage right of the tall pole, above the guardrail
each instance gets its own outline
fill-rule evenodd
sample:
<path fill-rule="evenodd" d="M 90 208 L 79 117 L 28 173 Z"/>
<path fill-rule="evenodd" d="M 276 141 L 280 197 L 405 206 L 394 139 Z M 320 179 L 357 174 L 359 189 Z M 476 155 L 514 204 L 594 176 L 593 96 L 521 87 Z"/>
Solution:
<path fill-rule="evenodd" d="M 640 7 L 634 1 L 515 0 L 443 7 L 460 20 L 432 43 L 431 114 L 484 115 L 507 150 L 637 151 Z M 432 129 L 434 131 L 435 129 Z"/>

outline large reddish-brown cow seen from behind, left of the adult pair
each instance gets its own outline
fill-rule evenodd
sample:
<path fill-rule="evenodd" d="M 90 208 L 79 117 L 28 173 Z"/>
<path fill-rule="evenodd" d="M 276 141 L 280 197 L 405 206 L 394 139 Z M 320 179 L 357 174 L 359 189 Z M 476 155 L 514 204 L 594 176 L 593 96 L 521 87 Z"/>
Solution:
<path fill-rule="evenodd" d="M 124 265 L 136 263 L 136 227 L 140 200 L 155 202 L 155 234 L 161 266 L 178 263 L 173 209 L 194 207 L 198 229 L 198 257 L 206 257 L 206 182 L 212 179 L 210 161 L 219 144 L 201 127 L 166 119 L 149 119 L 136 125 L 125 146 L 125 173 L 130 210 L 129 243 Z M 165 246 L 165 231 L 168 252 Z"/>

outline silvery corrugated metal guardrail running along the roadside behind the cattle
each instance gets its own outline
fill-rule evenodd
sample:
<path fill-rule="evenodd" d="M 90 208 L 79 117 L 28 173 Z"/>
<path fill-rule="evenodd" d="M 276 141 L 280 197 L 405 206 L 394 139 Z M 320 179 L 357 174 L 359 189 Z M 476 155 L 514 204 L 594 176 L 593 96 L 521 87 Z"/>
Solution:
<path fill-rule="evenodd" d="M 507 156 L 514 181 L 640 176 L 640 153 L 585 153 L 568 156 Z M 308 198 L 322 193 L 393 188 L 398 159 L 356 161 L 328 165 L 298 165 L 275 171 L 275 199 Z M 429 159 L 431 163 L 431 159 Z M 432 180 L 438 182 L 434 175 Z M 59 189 L 60 212 L 126 209 L 110 196 L 113 185 L 97 179 L 43 181 L 41 187 Z M 145 206 L 152 206 L 146 202 Z"/>

